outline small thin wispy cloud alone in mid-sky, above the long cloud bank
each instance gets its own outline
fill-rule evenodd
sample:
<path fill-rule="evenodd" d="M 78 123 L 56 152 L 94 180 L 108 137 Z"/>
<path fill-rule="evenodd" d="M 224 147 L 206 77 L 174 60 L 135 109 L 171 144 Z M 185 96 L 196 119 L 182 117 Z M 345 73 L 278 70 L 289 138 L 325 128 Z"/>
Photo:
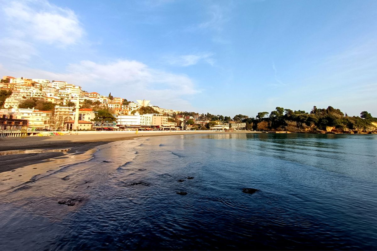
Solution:
<path fill-rule="evenodd" d="M 214 54 L 210 52 L 197 53 L 190 55 L 169 56 L 166 61 L 171 65 L 190 66 L 198 64 L 199 62 L 206 62 L 207 64 L 215 64 L 215 59 L 212 58 Z"/>

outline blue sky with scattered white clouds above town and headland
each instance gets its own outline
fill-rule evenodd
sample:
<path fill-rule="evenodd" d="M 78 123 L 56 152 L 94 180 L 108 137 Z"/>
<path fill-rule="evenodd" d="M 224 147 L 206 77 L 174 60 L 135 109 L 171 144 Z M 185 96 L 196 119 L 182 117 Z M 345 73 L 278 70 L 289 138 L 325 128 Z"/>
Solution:
<path fill-rule="evenodd" d="M 231 117 L 377 117 L 377 1 L 0 3 L 2 75 Z"/>

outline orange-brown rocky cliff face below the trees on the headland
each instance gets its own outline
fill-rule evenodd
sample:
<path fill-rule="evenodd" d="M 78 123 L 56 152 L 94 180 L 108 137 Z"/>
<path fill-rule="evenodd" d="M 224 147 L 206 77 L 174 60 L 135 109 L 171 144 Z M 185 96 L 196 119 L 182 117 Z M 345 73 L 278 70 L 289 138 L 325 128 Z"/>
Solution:
<path fill-rule="evenodd" d="M 290 121 L 290 120 L 285 120 L 287 123 L 286 126 L 282 126 L 279 128 L 271 128 L 271 123 L 268 121 L 261 121 L 257 123 L 257 131 L 287 131 L 287 132 L 303 132 L 303 133 L 377 133 L 377 123 L 372 122 L 371 126 L 368 126 L 366 128 L 354 128 L 354 129 L 337 129 L 332 126 L 326 126 L 326 130 L 321 130 L 317 128 L 314 123 L 311 125 L 307 125 L 306 123 L 300 123 L 296 121 Z"/>

